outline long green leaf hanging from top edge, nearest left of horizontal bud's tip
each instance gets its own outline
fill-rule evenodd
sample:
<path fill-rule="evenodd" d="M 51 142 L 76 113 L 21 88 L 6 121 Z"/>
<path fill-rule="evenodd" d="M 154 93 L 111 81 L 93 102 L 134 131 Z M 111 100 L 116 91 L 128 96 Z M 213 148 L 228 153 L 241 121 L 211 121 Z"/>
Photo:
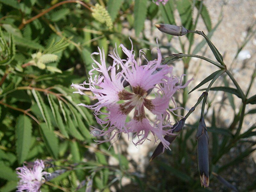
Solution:
<path fill-rule="evenodd" d="M 135 35 L 138 37 L 144 27 L 144 21 L 147 16 L 147 1 L 135 0 L 134 5 L 134 29 Z"/>

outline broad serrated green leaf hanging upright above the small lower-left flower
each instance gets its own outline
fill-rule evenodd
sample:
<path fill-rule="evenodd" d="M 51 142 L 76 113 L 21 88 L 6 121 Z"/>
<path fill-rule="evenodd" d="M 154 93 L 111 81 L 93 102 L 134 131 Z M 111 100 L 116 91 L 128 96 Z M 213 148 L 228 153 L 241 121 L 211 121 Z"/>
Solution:
<path fill-rule="evenodd" d="M 16 153 L 20 164 L 26 159 L 30 147 L 32 125 L 30 119 L 20 115 L 15 125 Z"/>

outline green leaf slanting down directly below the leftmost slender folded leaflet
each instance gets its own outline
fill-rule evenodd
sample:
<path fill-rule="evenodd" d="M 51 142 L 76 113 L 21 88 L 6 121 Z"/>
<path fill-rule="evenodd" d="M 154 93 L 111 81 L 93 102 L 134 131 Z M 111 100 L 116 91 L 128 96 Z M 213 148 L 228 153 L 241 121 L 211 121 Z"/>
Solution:
<path fill-rule="evenodd" d="M 52 130 L 49 130 L 45 123 L 40 124 L 40 132 L 48 152 L 52 157 L 57 159 L 59 154 L 59 143 L 55 133 Z"/>

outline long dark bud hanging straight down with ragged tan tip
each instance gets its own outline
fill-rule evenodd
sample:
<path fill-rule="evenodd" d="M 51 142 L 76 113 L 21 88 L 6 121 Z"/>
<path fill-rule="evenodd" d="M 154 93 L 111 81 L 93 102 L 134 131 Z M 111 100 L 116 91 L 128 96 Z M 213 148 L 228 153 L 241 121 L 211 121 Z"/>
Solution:
<path fill-rule="evenodd" d="M 209 159 L 208 159 L 208 133 L 204 118 L 199 121 L 196 132 L 197 140 L 197 161 L 200 173 L 201 186 L 209 186 Z"/>

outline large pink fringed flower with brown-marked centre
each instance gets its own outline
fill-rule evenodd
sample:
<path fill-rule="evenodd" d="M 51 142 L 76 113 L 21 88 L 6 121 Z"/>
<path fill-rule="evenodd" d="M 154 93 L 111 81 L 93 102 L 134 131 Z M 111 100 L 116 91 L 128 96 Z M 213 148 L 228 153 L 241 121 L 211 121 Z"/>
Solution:
<path fill-rule="evenodd" d="M 172 67 L 161 65 L 162 55 L 159 49 L 157 60 L 148 61 L 143 56 L 147 65 L 142 65 L 142 50 L 136 61 L 133 45 L 131 50 L 125 48 L 123 44 L 120 47 L 127 59 L 121 59 L 114 50 L 114 53 L 109 55 L 113 59 L 113 64 L 107 67 L 104 50 L 99 49 L 99 53 L 92 53 L 100 55 L 100 62 L 92 58 L 96 66 L 93 64 L 93 69 L 89 72 L 89 83 L 71 85 L 78 89 L 74 93 L 86 95 L 82 90 L 90 90 L 94 94 L 91 98 L 98 100 L 94 105 L 79 104 L 93 109 L 97 123 L 103 127 L 102 130 L 94 127 L 92 133 L 94 136 L 108 136 L 107 140 L 98 141 L 100 143 L 112 140 L 116 134 L 122 132 L 128 133 L 128 136 L 129 133 L 135 133 L 132 142 L 137 136 L 138 141 L 133 142 L 136 146 L 148 139 L 148 133 L 152 132 L 155 142 L 159 139 L 164 148 L 169 148 L 170 143 L 164 136 L 172 134 L 170 112 L 178 109 L 172 96 L 189 82 L 182 85 L 181 79 L 172 76 Z M 121 70 L 117 72 L 119 68 Z M 95 71 L 101 74 L 96 75 Z M 126 85 L 130 85 L 131 89 L 124 88 Z M 152 90 L 155 99 L 148 98 Z M 175 108 L 169 108 L 170 100 L 175 104 Z M 154 124 L 148 120 L 145 108 L 155 116 Z M 129 114 L 133 115 L 130 120 L 127 118 Z"/>

